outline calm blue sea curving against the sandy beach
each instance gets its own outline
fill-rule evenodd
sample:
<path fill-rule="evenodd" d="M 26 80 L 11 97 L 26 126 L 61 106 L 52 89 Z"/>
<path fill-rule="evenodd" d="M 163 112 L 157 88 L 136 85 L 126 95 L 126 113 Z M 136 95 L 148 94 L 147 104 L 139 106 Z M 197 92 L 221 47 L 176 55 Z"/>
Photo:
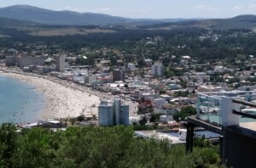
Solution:
<path fill-rule="evenodd" d="M 0 124 L 35 122 L 40 119 L 44 105 L 44 94 L 32 85 L 0 76 Z"/>

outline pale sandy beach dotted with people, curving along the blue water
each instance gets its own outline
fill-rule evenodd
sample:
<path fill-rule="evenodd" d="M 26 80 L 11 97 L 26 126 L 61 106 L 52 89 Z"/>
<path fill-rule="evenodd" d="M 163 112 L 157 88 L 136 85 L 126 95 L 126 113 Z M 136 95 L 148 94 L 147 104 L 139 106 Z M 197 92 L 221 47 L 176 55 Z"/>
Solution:
<path fill-rule="evenodd" d="M 23 76 L 14 73 L 0 73 L 1 76 L 13 77 L 24 81 L 46 97 L 45 109 L 41 113 L 41 119 L 67 118 L 79 115 L 97 115 L 97 106 L 100 98 L 82 92 L 71 87 L 49 81 L 47 79 Z"/>

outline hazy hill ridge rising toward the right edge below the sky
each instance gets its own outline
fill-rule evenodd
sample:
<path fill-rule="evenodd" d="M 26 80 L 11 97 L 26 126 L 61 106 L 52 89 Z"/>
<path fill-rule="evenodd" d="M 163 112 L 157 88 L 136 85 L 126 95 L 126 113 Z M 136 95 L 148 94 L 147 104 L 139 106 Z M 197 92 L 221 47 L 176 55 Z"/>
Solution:
<path fill-rule="evenodd" d="M 143 28 L 146 27 L 147 26 L 143 26 Z M 150 29 L 175 29 L 188 27 L 199 27 L 212 30 L 254 29 L 256 28 L 256 15 L 247 14 L 230 19 L 183 20 L 176 23 L 169 22 L 148 25 L 148 28 Z"/>

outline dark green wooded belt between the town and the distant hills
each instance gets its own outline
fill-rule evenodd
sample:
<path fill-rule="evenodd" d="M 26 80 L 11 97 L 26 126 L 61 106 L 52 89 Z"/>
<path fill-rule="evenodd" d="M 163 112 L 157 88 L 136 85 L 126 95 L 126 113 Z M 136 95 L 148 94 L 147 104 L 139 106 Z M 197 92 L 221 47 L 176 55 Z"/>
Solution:
<path fill-rule="evenodd" d="M 101 29 L 101 27 L 96 28 Z M 38 51 L 38 46 L 45 45 L 46 47 L 38 54 L 47 53 L 51 56 L 64 52 L 73 53 L 75 56 L 79 54 L 87 56 L 88 59 L 78 58 L 76 64 L 93 64 L 95 59 L 115 61 L 124 59 L 126 63 L 136 61 L 139 67 L 143 67 L 143 59 L 154 61 L 162 59 L 166 66 L 165 76 L 168 77 L 183 75 L 182 69 L 173 68 L 175 64 L 180 64 L 182 55 L 189 55 L 198 64 L 223 60 L 227 66 L 242 68 L 246 67 L 244 60 L 247 56 L 256 54 L 256 35 L 248 30 L 207 31 L 199 28 L 183 28 L 166 31 L 117 27 L 108 28 L 108 30 L 115 33 L 30 36 L 26 29 L 21 31 L 0 28 L 0 33 L 4 35 L 0 38 L 0 45 L 5 53 L 8 53 L 7 48 L 15 48 L 20 53 L 30 54 Z M 154 42 L 154 44 L 147 45 L 147 42 Z M 108 52 L 104 54 L 102 48 L 107 48 Z M 172 55 L 177 57 L 172 58 Z M 241 59 L 241 64 L 237 64 L 236 59 Z"/>

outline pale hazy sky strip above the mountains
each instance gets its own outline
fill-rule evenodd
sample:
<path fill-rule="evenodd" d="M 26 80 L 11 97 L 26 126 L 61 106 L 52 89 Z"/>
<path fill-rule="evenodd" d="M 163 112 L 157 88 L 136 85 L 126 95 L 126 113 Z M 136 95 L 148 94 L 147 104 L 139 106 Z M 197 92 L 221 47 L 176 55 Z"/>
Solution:
<path fill-rule="evenodd" d="M 229 18 L 256 14 L 255 0 L 0 0 L 0 7 L 15 4 L 130 18 Z"/>

